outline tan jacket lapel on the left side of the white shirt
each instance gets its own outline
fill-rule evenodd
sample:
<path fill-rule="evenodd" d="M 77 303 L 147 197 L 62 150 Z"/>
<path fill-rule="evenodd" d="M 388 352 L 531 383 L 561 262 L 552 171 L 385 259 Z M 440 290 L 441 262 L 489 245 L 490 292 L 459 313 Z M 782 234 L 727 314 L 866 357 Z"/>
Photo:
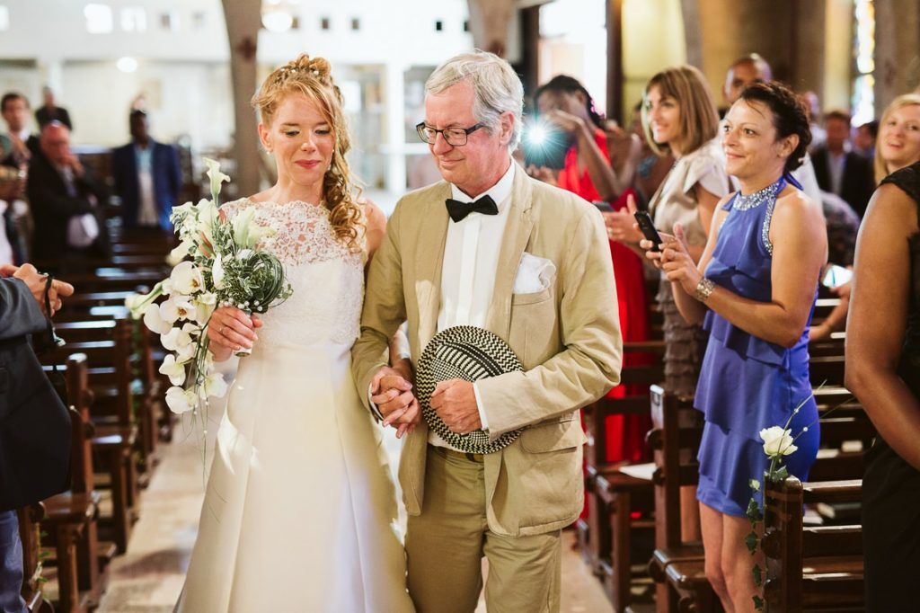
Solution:
<path fill-rule="evenodd" d="M 447 224 L 450 217 L 443 201 L 451 196 L 449 183 L 435 192 L 435 202 L 419 226 L 415 250 L 415 294 L 419 304 L 419 351 L 438 330 L 438 312 L 441 309 L 441 269 L 444 261 L 444 244 L 447 242 Z"/>

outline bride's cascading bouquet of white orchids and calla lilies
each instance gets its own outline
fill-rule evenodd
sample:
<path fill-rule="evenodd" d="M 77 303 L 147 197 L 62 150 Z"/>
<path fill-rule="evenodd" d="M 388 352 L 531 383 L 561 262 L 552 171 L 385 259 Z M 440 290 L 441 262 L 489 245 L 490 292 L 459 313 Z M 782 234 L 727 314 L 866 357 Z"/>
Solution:
<path fill-rule="evenodd" d="M 166 401 L 175 413 L 191 411 L 193 422 L 207 426 L 210 397 L 226 393 L 224 376 L 215 372 L 208 351 L 211 315 L 218 306 L 264 313 L 292 294 L 282 262 L 256 245 L 274 231 L 255 223 L 247 208 L 228 221 L 217 209 L 221 184 L 230 178 L 220 165 L 204 158 L 211 179 L 211 200 L 173 208 L 179 245 L 170 253 L 175 266 L 147 295 L 132 295 L 125 304 L 134 318 L 160 335 L 167 353 L 159 372 L 169 377 Z M 157 298 L 166 296 L 159 303 Z M 238 353 L 239 354 L 239 353 Z M 202 434 L 206 431 L 202 430 Z"/>

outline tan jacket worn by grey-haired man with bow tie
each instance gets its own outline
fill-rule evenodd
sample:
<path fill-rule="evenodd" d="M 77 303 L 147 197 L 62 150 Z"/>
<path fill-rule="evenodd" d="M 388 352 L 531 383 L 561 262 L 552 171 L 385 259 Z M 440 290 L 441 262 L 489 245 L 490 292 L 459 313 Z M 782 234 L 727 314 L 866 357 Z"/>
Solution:
<path fill-rule="evenodd" d="M 351 351 L 360 396 L 385 364 L 388 340 L 408 319 L 412 362 L 437 330 L 449 217 L 444 181 L 397 203 L 374 256 L 361 338 Z M 487 329 L 507 341 L 524 371 L 477 383 L 492 438 L 523 428 L 512 445 L 485 458 L 489 529 L 542 534 L 581 512 L 579 410 L 619 382 L 622 341 L 613 263 L 601 215 L 569 191 L 516 168 Z M 536 294 L 513 295 L 524 251 L 552 260 L 557 273 Z M 370 407 L 368 407 L 370 408 Z M 399 481 L 408 513 L 420 515 L 429 430 L 424 420 L 403 446 Z"/>

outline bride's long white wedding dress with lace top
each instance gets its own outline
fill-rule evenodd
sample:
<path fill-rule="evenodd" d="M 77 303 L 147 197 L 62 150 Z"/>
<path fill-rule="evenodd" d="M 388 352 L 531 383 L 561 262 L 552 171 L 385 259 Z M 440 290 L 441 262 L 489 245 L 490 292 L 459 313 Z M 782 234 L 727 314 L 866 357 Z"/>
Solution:
<path fill-rule="evenodd" d="M 325 207 L 247 199 L 293 295 L 262 316 L 217 433 L 198 540 L 176 610 L 411 611 L 381 433 L 351 377 L 362 252 Z"/>

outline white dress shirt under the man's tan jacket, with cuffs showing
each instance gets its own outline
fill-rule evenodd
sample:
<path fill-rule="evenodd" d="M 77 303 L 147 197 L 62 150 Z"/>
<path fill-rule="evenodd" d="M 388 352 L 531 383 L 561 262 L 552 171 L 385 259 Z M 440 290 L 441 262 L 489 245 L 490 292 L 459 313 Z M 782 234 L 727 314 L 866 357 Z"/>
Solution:
<path fill-rule="evenodd" d="M 447 240 L 441 268 L 441 307 L 438 310 L 438 331 L 454 326 L 486 327 L 486 316 L 495 289 L 495 272 L 499 267 L 499 252 L 508 211 L 511 209 L 514 164 L 509 160 L 508 170 L 489 190 L 474 197 L 467 196 L 451 185 L 451 198 L 460 202 L 473 202 L 490 196 L 499 208 L 497 215 L 471 213 L 459 222 L 447 222 Z M 473 384 L 479 408 L 482 429 L 489 430 L 486 411 Z M 451 447 L 443 438 L 429 431 L 431 445 Z M 457 451 L 459 451 L 457 449 Z"/>

